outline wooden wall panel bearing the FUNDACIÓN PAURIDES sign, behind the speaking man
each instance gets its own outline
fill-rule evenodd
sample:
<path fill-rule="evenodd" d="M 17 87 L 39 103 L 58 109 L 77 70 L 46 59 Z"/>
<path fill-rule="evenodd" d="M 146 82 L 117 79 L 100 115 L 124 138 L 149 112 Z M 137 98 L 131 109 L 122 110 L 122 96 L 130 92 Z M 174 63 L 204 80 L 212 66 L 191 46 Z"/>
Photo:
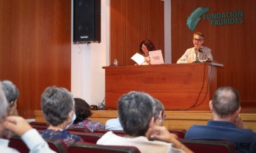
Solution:
<path fill-rule="evenodd" d="M 210 13 L 244 12 L 244 23 L 211 26 L 201 18 L 194 31 L 186 26 L 186 20 L 197 7 L 209 7 Z M 175 63 L 187 48 L 193 47 L 196 31 L 205 34 L 205 46 L 212 49 L 213 61 L 224 64 L 218 72 L 218 86 L 233 86 L 241 93 L 243 108 L 256 107 L 255 58 L 256 52 L 256 1 L 253 0 L 172 0 L 172 63 Z M 256 110 L 256 109 L 255 109 Z"/>

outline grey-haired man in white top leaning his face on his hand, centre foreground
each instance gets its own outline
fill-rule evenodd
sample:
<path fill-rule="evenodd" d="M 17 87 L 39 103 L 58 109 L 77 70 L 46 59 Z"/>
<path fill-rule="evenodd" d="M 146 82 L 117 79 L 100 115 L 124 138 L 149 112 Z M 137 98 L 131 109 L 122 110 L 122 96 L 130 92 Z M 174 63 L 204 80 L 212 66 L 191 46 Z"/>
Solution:
<path fill-rule="evenodd" d="M 142 153 L 191 152 L 176 135 L 155 124 L 154 111 L 154 100 L 149 94 L 130 92 L 123 95 L 118 101 L 118 116 L 125 135 L 121 137 L 109 131 L 97 144 L 135 146 Z M 163 141 L 150 141 L 150 138 Z"/>

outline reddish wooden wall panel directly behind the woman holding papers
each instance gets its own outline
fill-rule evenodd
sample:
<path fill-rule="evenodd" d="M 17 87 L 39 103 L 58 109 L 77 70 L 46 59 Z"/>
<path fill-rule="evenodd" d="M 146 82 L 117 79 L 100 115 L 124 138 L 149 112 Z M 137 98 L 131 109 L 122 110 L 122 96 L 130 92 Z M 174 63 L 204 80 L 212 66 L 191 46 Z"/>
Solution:
<path fill-rule="evenodd" d="M 111 0 L 110 61 L 135 64 L 130 58 L 140 53 L 139 44 L 150 39 L 164 54 L 164 1 Z"/>

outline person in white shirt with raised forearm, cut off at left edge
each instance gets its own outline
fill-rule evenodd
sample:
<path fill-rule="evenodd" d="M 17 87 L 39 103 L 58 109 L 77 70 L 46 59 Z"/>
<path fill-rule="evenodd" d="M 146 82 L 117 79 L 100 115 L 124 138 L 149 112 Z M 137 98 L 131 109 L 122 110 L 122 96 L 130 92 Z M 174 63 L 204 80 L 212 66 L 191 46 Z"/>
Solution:
<path fill-rule="evenodd" d="M 0 82 L 1 87 L 1 82 Z M 8 146 L 9 138 L 13 133 L 21 136 L 28 146 L 30 153 L 45 153 L 52 151 L 48 143 L 43 140 L 37 130 L 33 129 L 21 116 L 7 116 L 9 105 L 4 92 L 0 88 L 0 150 L 1 152 L 18 153 L 16 149 Z"/>

